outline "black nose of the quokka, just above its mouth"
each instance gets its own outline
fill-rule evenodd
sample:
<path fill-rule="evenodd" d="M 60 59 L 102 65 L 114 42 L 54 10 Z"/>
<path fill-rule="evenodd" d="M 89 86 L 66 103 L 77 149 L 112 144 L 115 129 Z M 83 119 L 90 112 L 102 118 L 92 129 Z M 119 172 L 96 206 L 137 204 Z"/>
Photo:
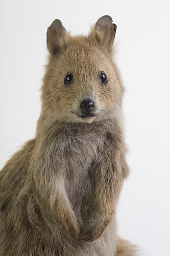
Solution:
<path fill-rule="evenodd" d="M 80 109 L 82 112 L 81 117 L 95 116 L 91 111 L 95 110 L 94 101 L 91 99 L 85 99 L 80 103 Z"/>

